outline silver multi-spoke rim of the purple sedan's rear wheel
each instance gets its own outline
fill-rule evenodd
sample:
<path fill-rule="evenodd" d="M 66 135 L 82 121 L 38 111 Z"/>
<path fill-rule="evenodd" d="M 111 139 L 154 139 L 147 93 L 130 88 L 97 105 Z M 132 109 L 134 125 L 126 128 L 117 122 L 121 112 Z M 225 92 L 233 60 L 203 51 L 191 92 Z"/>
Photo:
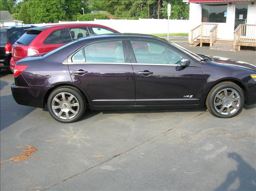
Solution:
<path fill-rule="evenodd" d="M 60 119 L 72 119 L 79 111 L 76 97 L 70 93 L 62 92 L 52 99 L 52 111 Z"/>

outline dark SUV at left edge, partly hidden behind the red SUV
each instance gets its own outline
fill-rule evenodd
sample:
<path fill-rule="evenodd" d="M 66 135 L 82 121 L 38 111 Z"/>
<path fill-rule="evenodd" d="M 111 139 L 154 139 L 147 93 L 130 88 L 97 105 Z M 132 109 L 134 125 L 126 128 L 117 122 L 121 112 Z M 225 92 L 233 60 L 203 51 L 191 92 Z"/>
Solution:
<path fill-rule="evenodd" d="M 9 68 L 10 60 L 12 58 L 12 44 L 20 36 L 22 36 L 25 31 L 24 29 L 32 28 L 33 25 L 16 25 L 1 27 L 0 29 L 0 69 Z"/>

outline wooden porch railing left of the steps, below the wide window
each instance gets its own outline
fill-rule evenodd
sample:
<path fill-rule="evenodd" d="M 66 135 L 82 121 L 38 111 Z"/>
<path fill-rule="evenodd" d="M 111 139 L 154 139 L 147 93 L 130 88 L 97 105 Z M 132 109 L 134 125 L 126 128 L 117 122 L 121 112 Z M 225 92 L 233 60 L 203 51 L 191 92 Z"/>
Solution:
<path fill-rule="evenodd" d="M 212 36 L 212 43 L 214 43 L 217 39 L 217 27 L 218 24 L 200 24 L 196 28 L 193 28 L 191 30 L 191 36 L 190 36 L 190 44 L 193 44 L 193 42 L 200 38 L 202 39 L 211 39 Z"/>

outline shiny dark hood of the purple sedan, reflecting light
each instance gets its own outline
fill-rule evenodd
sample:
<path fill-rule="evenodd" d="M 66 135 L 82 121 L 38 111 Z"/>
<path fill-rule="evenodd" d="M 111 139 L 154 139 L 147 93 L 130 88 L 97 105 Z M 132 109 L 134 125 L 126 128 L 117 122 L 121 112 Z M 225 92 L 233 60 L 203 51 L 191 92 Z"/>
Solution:
<path fill-rule="evenodd" d="M 218 57 L 218 56 L 207 56 L 207 57 L 211 58 L 213 62 L 217 62 L 218 64 L 235 66 L 235 67 L 239 67 L 239 68 L 246 68 L 249 70 L 256 71 L 256 66 L 249 64 L 247 62 L 243 62 L 240 60 L 234 60 L 231 58 Z"/>

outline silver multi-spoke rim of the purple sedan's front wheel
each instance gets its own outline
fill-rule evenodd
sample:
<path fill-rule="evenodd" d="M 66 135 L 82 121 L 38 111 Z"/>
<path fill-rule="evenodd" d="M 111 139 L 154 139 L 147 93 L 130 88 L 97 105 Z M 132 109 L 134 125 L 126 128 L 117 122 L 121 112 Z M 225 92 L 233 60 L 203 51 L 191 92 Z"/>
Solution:
<path fill-rule="evenodd" d="M 222 115 L 235 113 L 240 105 L 240 95 L 232 88 L 220 90 L 214 98 L 214 108 Z"/>

